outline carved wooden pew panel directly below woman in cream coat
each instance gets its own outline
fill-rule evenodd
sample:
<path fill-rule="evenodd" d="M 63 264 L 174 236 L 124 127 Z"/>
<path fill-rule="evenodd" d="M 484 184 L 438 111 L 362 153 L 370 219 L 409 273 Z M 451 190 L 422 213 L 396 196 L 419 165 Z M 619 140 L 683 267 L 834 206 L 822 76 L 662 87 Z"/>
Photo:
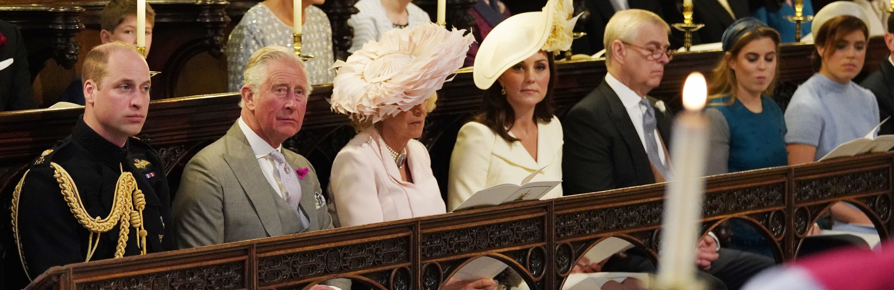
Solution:
<path fill-rule="evenodd" d="M 544 241 L 544 220 L 532 218 L 426 234 L 422 259 Z"/>

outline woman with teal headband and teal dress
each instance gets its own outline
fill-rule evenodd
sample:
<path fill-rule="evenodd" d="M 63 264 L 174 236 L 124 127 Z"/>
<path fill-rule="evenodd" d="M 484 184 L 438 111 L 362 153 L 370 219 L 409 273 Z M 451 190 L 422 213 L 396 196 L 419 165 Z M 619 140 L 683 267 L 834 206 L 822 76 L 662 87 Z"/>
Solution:
<path fill-rule="evenodd" d="M 788 164 L 786 126 L 769 97 L 776 82 L 780 35 L 754 18 L 723 33 L 726 52 L 713 70 L 705 110 L 712 134 L 708 175 Z"/>

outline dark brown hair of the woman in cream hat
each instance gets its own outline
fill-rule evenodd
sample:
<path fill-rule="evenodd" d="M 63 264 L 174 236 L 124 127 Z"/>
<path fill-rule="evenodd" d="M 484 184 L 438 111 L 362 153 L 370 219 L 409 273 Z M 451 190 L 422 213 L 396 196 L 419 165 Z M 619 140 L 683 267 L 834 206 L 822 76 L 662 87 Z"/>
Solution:
<path fill-rule="evenodd" d="M 555 90 L 558 78 L 556 76 L 556 66 L 555 62 L 552 60 L 552 54 L 545 54 L 546 60 L 549 62 L 550 82 L 548 87 L 546 87 L 546 95 L 544 96 L 544 99 L 534 107 L 534 122 L 537 122 L 538 120 L 549 122 L 552 120 L 552 113 L 554 111 L 552 92 Z M 519 141 L 519 139 L 509 136 L 509 130 L 515 122 L 515 112 L 512 111 L 512 106 L 509 104 L 509 101 L 506 100 L 506 95 L 502 94 L 502 89 L 503 87 L 500 85 L 500 82 L 494 81 L 493 86 L 485 90 L 485 93 L 482 96 L 484 104 L 481 107 L 481 112 L 475 116 L 473 121 L 485 124 L 487 128 L 491 128 L 493 132 L 497 133 L 497 135 L 506 141 Z"/>

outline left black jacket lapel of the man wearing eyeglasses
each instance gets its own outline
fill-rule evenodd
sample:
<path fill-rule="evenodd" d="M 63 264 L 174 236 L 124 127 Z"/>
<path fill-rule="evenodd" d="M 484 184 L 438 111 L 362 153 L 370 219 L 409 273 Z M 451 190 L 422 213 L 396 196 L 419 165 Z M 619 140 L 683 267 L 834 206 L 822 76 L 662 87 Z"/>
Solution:
<path fill-rule="evenodd" d="M 605 95 L 605 99 L 608 101 L 612 123 L 618 129 L 618 133 L 624 139 L 624 142 L 627 143 L 630 160 L 633 162 L 631 165 L 634 171 L 637 172 L 637 181 L 640 184 L 653 183 L 652 163 L 649 162 L 649 155 L 645 153 L 645 147 L 643 146 L 643 141 L 639 139 L 637 128 L 633 127 L 633 121 L 630 120 L 627 108 L 620 102 L 620 97 L 609 87 L 608 83 L 603 81 L 599 89 L 603 91 L 603 95 Z"/>

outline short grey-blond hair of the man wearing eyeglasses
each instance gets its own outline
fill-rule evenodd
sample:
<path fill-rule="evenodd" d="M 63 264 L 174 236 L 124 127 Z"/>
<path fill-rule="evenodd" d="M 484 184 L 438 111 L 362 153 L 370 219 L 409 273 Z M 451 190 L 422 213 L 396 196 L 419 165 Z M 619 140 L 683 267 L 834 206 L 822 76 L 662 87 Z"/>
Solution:
<path fill-rule="evenodd" d="M 614 16 L 607 24 L 605 24 L 605 35 L 603 36 L 603 46 L 605 47 L 605 62 L 611 61 L 611 43 L 615 40 L 631 42 L 637 38 L 639 30 L 643 23 L 652 23 L 664 28 L 667 33 L 671 33 L 669 26 L 661 16 L 654 12 L 642 9 L 628 9 L 615 12 Z"/>

